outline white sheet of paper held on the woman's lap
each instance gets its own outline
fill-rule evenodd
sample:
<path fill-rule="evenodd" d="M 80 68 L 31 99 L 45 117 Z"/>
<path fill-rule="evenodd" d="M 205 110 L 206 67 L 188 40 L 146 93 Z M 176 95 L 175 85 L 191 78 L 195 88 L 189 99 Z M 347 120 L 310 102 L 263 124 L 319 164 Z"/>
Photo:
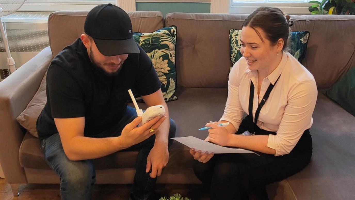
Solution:
<path fill-rule="evenodd" d="M 222 147 L 217 144 L 212 144 L 212 143 L 209 143 L 207 141 L 201 140 L 201 139 L 193 137 L 193 136 L 174 137 L 171 139 L 176 140 L 182 144 L 185 144 L 186 146 L 188 146 L 190 148 L 195 148 L 196 151 L 201 150 L 202 153 L 204 153 L 206 151 L 208 151 L 210 153 L 212 153 L 212 152 L 214 152 L 214 153 L 255 153 L 255 152 L 245 150 L 245 149 Z M 257 153 L 255 153 L 255 154 L 257 154 Z"/>

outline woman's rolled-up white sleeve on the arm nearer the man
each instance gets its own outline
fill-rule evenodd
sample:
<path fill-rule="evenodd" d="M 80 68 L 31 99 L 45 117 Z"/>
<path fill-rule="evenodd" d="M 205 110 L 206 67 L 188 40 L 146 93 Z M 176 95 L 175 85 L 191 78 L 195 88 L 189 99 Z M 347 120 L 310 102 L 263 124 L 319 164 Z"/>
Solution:
<path fill-rule="evenodd" d="M 235 130 L 239 129 L 243 117 L 243 109 L 239 100 L 239 68 L 236 62 L 228 77 L 228 98 L 224 109 L 224 114 L 220 120 L 230 122 Z"/>

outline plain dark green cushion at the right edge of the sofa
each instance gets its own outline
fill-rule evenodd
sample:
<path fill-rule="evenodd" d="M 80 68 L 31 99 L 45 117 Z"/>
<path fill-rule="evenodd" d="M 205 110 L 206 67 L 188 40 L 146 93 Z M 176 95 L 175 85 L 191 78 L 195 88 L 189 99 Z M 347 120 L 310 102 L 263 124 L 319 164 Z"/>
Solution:
<path fill-rule="evenodd" d="M 350 69 L 325 94 L 355 116 L 355 68 Z"/>

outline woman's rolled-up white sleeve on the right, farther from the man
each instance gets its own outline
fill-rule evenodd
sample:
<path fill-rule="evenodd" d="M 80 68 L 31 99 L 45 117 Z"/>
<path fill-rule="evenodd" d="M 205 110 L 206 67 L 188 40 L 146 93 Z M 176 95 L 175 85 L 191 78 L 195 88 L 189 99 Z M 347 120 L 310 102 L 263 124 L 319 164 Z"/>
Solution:
<path fill-rule="evenodd" d="M 290 153 L 303 132 L 310 128 L 317 93 L 314 79 L 296 83 L 290 90 L 277 135 L 268 138 L 267 146 L 276 150 L 275 156 Z"/>

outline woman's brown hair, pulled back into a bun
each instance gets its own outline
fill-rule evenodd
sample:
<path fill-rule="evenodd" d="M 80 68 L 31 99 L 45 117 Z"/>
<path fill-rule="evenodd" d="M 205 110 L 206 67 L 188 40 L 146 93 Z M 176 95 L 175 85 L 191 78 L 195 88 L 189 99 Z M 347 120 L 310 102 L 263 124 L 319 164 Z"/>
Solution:
<path fill-rule="evenodd" d="M 264 40 L 256 27 L 261 28 L 266 33 L 267 39 L 272 44 L 276 44 L 282 38 L 284 40 L 282 50 L 285 50 L 290 36 L 290 26 L 292 25 L 293 21 L 290 21 L 290 16 L 284 14 L 277 7 L 258 7 L 244 20 L 242 27 L 253 28 L 263 42 Z"/>

